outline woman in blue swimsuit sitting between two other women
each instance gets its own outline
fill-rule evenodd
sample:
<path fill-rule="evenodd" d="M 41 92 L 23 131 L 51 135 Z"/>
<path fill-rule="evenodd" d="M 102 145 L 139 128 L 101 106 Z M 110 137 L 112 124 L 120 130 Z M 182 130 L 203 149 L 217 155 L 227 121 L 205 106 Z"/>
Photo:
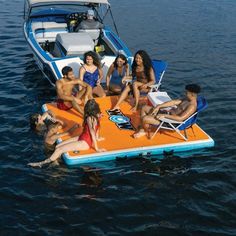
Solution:
<path fill-rule="evenodd" d="M 106 83 L 108 92 L 120 94 L 124 88 L 125 81 L 123 79 L 128 75 L 129 65 L 127 58 L 123 54 L 119 54 L 107 72 Z"/>

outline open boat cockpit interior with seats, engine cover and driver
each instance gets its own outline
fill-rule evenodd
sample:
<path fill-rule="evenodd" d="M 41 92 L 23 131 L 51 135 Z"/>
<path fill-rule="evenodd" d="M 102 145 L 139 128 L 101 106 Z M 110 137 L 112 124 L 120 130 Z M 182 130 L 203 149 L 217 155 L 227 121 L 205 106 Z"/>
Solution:
<path fill-rule="evenodd" d="M 90 50 L 101 57 L 117 54 L 111 40 L 105 37 L 106 29 L 94 8 L 53 16 L 37 14 L 31 18 L 31 29 L 38 44 L 52 58 L 82 56 Z"/>

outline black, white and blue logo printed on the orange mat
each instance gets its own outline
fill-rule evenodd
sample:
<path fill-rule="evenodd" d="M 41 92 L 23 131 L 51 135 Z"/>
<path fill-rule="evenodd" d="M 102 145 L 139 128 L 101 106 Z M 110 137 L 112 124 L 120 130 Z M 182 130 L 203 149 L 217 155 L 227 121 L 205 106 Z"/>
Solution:
<path fill-rule="evenodd" d="M 107 110 L 109 120 L 114 122 L 121 130 L 135 130 L 129 117 L 125 116 L 120 110 Z"/>

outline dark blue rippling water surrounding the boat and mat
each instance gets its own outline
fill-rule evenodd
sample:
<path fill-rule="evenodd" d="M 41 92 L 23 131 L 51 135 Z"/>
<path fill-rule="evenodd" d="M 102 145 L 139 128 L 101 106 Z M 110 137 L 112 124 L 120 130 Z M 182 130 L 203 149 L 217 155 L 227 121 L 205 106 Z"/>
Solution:
<path fill-rule="evenodd" d="M 29 115 L 55 92 L 24 40 L 23 1 L 0 3 L 0 235 L 236 235 L 235 0 L 111 1 L 132 52 L 168 61 L 168 92 L 197 82 L 209 102 L 199 123 L 216 147 L 163 175 L 140 159 L 26 166 L 44 159 Z"/>

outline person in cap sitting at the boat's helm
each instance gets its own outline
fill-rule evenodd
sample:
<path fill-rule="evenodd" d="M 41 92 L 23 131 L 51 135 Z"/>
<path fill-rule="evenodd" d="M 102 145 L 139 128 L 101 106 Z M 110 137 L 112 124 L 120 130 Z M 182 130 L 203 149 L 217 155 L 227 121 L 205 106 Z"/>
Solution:
<path fill-rule="evenodd" d="M 80 29 L 86 30 L 86 29 L 101 29 L 103 28 L 103 24 L 101 24 L 99 21 L 96 21 L 94 19 L 94 11 L 89 9 L 87 11 L 87 19 L 81 21 L 81 23 L 78 25 L 75 31 L 79 31 Z"/>

